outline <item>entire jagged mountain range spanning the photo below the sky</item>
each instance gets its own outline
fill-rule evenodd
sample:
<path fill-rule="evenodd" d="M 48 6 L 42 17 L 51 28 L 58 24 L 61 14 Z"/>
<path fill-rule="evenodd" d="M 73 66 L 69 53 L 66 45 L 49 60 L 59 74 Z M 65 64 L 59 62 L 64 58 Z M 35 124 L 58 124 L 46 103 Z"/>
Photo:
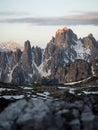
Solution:
<path fill-rule="evenodd" d="M 78 38 L 69 28 L 56 31 L 45 49 L 0 44 L 0 81 L 14 84 L 69 83 L 98 75 L 98 41 L 93 34 Z"/>

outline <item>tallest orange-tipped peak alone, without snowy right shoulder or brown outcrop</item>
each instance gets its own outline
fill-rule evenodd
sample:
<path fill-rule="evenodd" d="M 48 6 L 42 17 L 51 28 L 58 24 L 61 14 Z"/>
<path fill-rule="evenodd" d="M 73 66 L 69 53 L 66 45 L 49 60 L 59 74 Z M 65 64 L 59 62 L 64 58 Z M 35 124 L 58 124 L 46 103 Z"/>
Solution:
<path fill-rule="evenodd" d="M 46 73 L 50 72 L 50 77 L 54 77 L 58 68 L 63 69 L 67 63 L 74 61 L 77 53 L 71 46 L 76 44 L 76 40 L 77 36 L 71 29 L 63 28 L 57 30 L 55 37 L 52 37 L 46 46 L 43 71 Z M 56 77 L 58 77 L 57 75 Z"/>

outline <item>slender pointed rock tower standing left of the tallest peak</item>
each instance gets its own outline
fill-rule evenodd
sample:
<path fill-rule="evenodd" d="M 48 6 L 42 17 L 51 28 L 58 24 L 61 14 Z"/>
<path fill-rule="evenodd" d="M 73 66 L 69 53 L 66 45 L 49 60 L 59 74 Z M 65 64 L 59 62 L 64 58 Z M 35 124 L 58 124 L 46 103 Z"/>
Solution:
<path fill-rule="evenodd" d="M 36 69 L 34 56 L 29 41 L 24 44 L 24 49 L 18 65 L 13 71 L 13 83 L 33 83 L 39 78 L 38 70 Z"/>

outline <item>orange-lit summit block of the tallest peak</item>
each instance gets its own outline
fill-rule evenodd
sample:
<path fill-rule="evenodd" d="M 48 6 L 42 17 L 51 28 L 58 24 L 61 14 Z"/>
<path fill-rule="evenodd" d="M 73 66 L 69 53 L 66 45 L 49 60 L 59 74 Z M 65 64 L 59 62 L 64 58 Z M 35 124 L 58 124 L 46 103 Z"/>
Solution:
<path fill-rule="evenodd" d="M 71 43 L 71 41 L 77 40 L 77 35 L 73 33 L 73 31 L 67 27 L 64 27 L 63 29 L 58 29 L 55 38 L 54 43 L 56 45 L 63 45 L 68 46 L 68 43 Z"/>

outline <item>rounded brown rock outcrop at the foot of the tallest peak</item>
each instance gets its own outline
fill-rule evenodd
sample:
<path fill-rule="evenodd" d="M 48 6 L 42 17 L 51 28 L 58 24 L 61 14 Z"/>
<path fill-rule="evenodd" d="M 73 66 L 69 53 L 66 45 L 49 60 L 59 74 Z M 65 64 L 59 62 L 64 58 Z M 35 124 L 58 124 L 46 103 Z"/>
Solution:
<path fill-rule="evenodd" d="M 75 82 L 92 75 L 91 66 L 84 60 L 76 60 L 66 67 L 66 82 Z"/>

